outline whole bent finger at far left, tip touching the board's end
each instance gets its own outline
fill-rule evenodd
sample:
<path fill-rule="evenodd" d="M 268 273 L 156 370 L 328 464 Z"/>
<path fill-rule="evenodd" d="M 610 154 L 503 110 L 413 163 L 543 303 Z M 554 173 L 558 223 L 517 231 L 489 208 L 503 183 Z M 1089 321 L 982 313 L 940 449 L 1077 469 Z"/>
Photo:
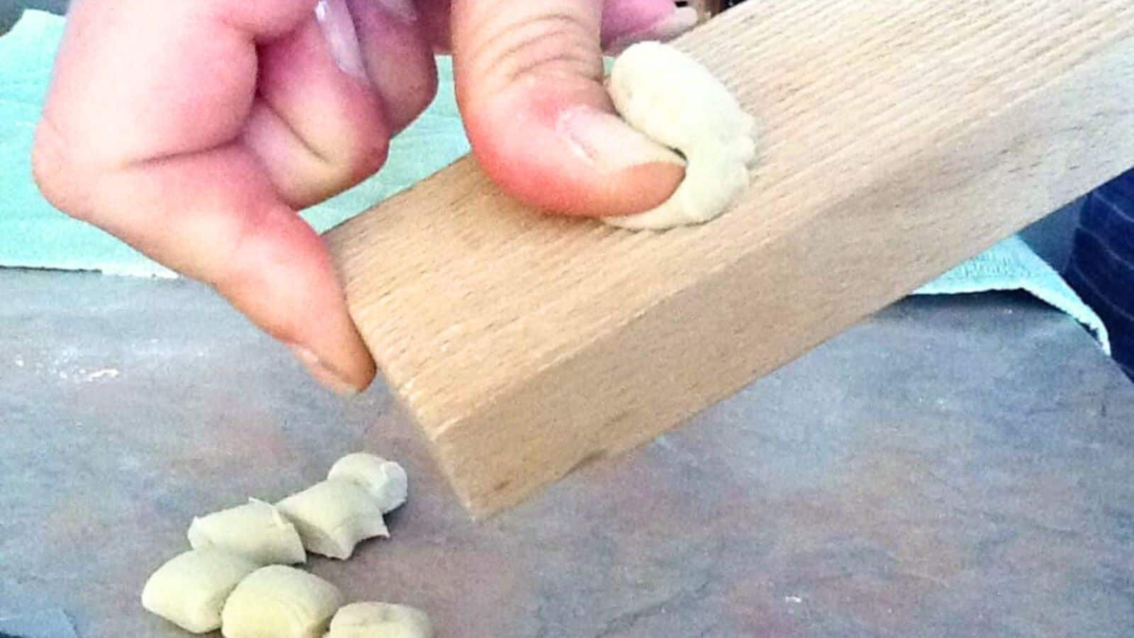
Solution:
<path fill-rule="evenodd" d="M 73 10 L 34 170 L 59 208 L 204 279 L 340 386 L 373 361 L 325 249 L 238 141 L 256 47 L 314 2 L 83 0 Z M 139 61 L 141 60 L 141 61 Z M 323 375 L 325 378 L 327 375 Z"/>

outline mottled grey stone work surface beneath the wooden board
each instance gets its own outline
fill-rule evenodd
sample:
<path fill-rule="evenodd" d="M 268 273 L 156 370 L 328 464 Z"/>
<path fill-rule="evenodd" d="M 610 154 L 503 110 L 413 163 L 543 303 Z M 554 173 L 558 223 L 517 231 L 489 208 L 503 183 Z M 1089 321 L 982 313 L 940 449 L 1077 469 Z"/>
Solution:
<path fill-rule="evenodd" d="M 399 459 L 392 538 L 311 569 L 442 637 L 1129 636 L 1134 386 L 1013 295 L 904 302 L 626 456 L 467 520 L 350 402 L 188 282 L 0 270 L 0 618 L 174 637 L 195 514 Z"/>

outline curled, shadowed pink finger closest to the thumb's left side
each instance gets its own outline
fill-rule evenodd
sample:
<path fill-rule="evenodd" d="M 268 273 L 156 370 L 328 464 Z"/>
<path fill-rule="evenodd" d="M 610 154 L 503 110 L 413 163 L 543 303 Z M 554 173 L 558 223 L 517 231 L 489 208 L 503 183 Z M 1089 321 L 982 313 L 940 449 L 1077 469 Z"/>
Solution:
<path fill-rule="evenodd" d="M 411 0 L 348 0 L 367 75 L 390 133 L 409 125 L 437 94 L 433 49 Z"/>

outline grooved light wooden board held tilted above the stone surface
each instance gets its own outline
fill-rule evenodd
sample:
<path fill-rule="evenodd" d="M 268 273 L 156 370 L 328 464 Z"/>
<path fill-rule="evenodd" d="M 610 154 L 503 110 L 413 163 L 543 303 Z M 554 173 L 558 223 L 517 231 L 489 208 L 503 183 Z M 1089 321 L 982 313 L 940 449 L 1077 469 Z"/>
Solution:
<path fill-rule="evenodd" d="M 678 44 L 765 129 L 725 217 L 665 234 L 548 218 L 465 159 L 328 236 L 474 514 L 672 428 L 1134 166 L 1128 0 L 761 0 Z"/>

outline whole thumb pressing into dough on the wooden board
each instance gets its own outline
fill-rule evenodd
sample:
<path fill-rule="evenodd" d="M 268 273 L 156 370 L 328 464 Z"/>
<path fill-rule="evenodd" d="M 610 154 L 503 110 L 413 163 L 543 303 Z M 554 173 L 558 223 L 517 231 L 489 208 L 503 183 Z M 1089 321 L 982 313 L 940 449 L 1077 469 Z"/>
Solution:
<path fill-rule="evenodd" d="M 666 201 L 679 158 L 626 125 L 602 85 L 601 0 L 454 0 L 457 98 L 473 153 L 551 211 L 633 215 Z"/>

